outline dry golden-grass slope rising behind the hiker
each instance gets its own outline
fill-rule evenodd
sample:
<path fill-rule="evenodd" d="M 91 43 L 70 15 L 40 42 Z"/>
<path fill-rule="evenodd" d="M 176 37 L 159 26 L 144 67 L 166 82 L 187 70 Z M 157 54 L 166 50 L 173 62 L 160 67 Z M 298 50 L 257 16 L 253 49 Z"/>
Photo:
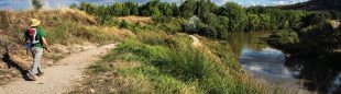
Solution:
<path fill-rule="evenodd" d="M 129 31 L 101 26 L 97 24 L 96 16 L 78 10 L 0 11 L 0 85 L 20 77 L 13 66 L 7 64 L 9 60 L 24 69 L 30 68 L 31 56 L 23 48 L 22 37 L 32 17 L 42 21 L 52 49 L 51 52 L 44 54 L 43 67 L 58 64 L 56 62 L 59 59 L 89 46 L 110 44 L 130 36 Z M 6 50 L 7 48 L 9 50 Z"/>

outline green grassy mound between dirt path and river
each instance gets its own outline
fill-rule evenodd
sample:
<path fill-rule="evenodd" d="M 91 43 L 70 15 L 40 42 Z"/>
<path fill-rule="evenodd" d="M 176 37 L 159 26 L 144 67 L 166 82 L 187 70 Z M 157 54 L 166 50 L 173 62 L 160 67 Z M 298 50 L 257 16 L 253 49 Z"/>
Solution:
<path fill-rule="evenodd" d="M 204 45 L 194 47 L 186 34 L 135 34 L 89 67 L 70 93 L 260 93 L 227 44 L 201 37 Z"/>

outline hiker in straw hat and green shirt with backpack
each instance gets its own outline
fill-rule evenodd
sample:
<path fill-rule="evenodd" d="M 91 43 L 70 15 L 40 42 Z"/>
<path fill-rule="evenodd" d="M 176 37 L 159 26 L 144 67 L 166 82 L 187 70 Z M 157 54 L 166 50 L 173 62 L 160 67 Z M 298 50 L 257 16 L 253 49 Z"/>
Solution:
<path fill-rule="evenodd" d="M 47 40 L 45 38 L 44 31 L 40 27 L 41 21 L 36 19 L 31 19 L 31 25 L 24 32 L 25 38 L 25 49 L 31 51 L 33 56 L 32 69 L 29 71 L 29 77 L 35 81 L 35 75 L 42 77 L 44 73 L 42 71 L 41 59 L 44 49 L 50 51 L 47 47 Z"/>

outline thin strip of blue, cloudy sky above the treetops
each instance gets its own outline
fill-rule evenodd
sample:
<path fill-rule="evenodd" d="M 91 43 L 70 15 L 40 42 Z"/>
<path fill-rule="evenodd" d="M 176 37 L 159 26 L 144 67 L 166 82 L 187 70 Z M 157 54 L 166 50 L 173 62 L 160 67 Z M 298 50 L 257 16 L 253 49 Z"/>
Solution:
<path fill-rule="evenodd" d="M 117 1 L 135 1 L 138 3 L 145 3 L 150 0 L 42 0 L 44 2 L 44 8 L 53 9 L 53 8 L 65 8 L 69 7 L 72 3 L 80 3 L 82 1 L 90 2 L 95 4 L 107 4 L 113 3 Z M 180 3 L 182 0 L 161 0 L 163 2 L 177 2 Z M 218 5 L 222 5 L 226 2 L 237 2 L 243 7 L 252 7 L 252 5 L 280 5 L 280 4 L 293 4 L 297 2 L 304 2 L 308 0 L 212 0 Z M 26 10 L 32 8 L 31 0 L 0 0 L 0 10 Z"/>

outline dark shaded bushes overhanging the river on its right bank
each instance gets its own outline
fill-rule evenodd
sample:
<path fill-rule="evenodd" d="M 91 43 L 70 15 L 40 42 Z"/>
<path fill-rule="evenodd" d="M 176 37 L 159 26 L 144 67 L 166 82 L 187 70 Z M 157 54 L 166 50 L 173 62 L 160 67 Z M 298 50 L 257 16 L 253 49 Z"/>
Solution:
<path fill-rule="evenodd" d="M 289 54 L 316 57 L 340 47 L 338 37 L 340 31 L 333 28 L 323 14 L 311 13 L 302 17 L 300 28 L 295 32 L 277 31 L 272 35 L 270 43 Z"/>

